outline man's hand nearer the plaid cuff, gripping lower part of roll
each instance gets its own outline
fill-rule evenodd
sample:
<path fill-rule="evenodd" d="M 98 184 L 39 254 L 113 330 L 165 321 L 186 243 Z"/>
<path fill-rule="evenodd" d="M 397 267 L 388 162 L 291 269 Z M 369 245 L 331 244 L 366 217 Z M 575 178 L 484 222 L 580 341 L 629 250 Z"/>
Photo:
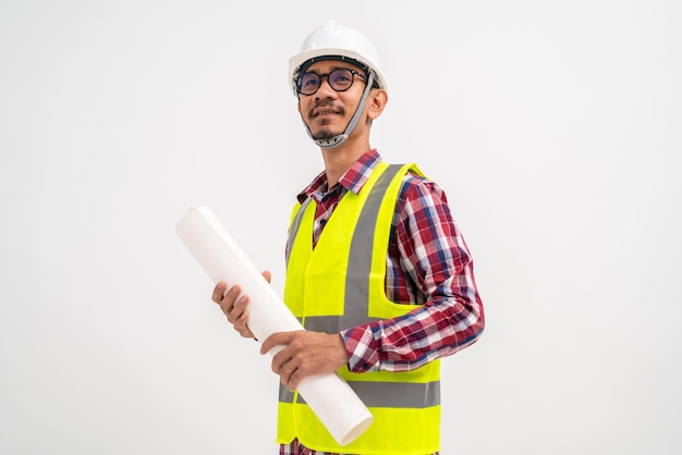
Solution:
<path fill-rule="evenodd" d="M 349 360 L 339 333 L 305 330 L 273 333 L 263 342 L 260 354 L 278 345 L 283 348 L 272 357 L 272 371 L 292 391 L 305 377 L 334 372 Z"/>

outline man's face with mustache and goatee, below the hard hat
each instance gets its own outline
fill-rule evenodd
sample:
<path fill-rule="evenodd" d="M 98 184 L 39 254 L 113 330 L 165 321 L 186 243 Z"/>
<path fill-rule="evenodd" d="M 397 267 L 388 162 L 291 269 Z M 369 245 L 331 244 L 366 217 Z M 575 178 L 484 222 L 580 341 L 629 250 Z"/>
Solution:
<path fill-rule="evenodd" d="M 354 75 L 353 85 L 348 90 L 334 90 L 325 76 L 315 94 L 299 95 L 299 112 L 315 139 L 328 139 L 343 134 L 365 89 L 365 73 L 346 62 L 333 60 L 317 62 L 308 66 L 306 73 L 328 75 L 339 69 L 354 70 L 360 73 Z"/>

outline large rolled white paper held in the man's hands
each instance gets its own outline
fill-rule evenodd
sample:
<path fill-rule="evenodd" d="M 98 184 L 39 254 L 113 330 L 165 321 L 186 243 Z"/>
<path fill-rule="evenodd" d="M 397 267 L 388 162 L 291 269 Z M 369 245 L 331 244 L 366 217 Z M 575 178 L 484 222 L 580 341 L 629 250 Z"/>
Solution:
<path fill-rule="evenodd" d="M 239 284 L 248 295 L 248 329 L 257 340 L 275 332 L 305 330 L 210 209 L 190 208 L 175 232 L 214 284 Z M 276 346 L 269 354 L 281 348 Z M 303 379 L 299 393 L 339 445 L 353 442 L 374 420 L 353 389 L 337 373 Z"/>

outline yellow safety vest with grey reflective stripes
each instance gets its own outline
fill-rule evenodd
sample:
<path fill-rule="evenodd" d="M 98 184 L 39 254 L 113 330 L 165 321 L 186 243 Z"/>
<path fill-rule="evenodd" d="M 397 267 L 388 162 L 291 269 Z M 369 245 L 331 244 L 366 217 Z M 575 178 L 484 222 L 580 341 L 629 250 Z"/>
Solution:
<path fill-rule="evenodd" d="M 386 255 L 402 177 L 415 164 L 379 163 L 360 195 L 348 192 L 313 249 L 315 201 L 294 208 L 284 302 L 306 330 L 338 333 L 418 308 L 386 297 Z M 425 455 L 440 445 L 440 362 L 406 372 L 339 370 L 374 422 L 340 446 L 297 392 L 280 384 L 277 441 L 348 454 Z"/>

